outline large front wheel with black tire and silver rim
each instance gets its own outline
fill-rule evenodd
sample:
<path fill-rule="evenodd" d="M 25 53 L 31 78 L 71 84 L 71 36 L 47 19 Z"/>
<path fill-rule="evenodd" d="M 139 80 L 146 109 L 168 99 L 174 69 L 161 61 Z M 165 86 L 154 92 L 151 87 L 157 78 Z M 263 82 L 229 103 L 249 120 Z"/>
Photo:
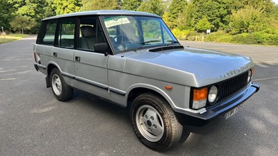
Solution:
<path fill-rule="evenodd" d="M 183 132 L 167 101 L 152 92 L 135 98 L 131 105 L 131 123 L 142 144 L 157 151 L 178 144 Z"/>

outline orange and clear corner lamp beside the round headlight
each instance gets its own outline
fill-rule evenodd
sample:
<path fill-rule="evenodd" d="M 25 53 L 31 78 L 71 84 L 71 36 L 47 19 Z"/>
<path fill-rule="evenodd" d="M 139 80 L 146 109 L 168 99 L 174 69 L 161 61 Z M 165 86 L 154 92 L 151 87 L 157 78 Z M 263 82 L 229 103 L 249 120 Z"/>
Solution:
<path fill-rule="evenodd" d="M 206 98 L 208 97 L 208 88 L 193 89 L 193 109 L 199 109 L 206 106 Z"/>

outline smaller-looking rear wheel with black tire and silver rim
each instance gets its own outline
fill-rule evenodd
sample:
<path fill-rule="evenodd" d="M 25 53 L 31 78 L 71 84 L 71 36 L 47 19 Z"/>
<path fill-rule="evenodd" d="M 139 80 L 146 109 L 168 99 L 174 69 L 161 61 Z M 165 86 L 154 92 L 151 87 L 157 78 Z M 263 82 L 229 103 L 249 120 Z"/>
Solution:
<path fill-rule="evenodd" d="M 74 89 L 65 83 L 65 80 L 56 68 L 52 69 L 50 73 L 50 84 L 52 92 L 58 101 L 68 101 L 72 98 Z"/>

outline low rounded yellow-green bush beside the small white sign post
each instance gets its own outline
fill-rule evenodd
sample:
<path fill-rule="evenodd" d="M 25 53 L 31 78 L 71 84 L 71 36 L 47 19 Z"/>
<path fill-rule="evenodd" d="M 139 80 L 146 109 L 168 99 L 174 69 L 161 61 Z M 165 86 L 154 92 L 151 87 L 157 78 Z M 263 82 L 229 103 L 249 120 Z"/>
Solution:
<path fill-rule="evenodd" d="M 218 31 L 206 35 L 204 41 L 206 42 L 231 42 L 232 36 L 224 31 Z"/>

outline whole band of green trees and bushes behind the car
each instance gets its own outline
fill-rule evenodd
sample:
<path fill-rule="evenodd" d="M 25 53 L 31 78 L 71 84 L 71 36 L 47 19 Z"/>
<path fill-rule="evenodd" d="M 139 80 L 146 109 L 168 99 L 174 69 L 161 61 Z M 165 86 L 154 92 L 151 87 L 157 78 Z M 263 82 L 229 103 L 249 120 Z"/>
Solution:
<path fill-rule="evenodd" d="M 37 33 L 40 20 L 54 15 L 124 9 L 160 15 L 180 40 L 278 45 L 272 0 L 0 0 L 0 8 L 7 32 Z"/>

